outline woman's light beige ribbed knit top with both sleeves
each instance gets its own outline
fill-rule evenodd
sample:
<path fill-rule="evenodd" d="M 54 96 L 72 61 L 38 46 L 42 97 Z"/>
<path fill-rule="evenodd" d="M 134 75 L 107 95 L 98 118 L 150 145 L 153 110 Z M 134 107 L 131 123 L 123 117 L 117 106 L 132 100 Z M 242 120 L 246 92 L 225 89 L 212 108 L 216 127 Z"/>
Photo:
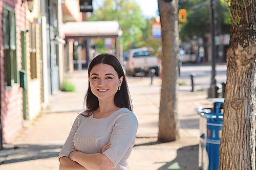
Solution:
<path fill-rule="evenodd" d="M 81 114 L 76 117 L 59 158 L 69 157 L 74 150 L 87 154 L 100 153 L 110 141 L 110 148 L 103 154 L 114 163 L 113 169 L 126 169 L 138 129 L 135 114 L 127 108 L 120 108 L 110 116 L 99 119 L 93 114 L 89 117 Z"/>

